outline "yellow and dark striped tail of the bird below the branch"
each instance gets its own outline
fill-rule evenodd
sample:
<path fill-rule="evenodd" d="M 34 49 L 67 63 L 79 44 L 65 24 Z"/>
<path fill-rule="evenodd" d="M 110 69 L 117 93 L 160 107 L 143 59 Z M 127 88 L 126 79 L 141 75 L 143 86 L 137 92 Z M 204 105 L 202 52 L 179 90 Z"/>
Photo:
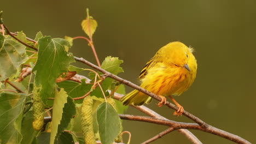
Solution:
<path fill-rule="evenodd" d="M 122 97 L 120 101 L 123 105 L 143 105 L 144 103 L 149 104 L 152 101 L 152 98 L 135 89 Z"/>

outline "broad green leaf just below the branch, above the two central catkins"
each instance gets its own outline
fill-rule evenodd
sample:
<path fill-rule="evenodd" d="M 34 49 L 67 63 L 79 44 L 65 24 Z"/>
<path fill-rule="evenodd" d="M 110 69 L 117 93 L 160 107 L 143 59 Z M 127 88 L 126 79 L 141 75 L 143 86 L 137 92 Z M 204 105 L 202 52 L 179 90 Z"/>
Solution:
<path fill-rule="evenodd" d="M 72 98 L 82 97 L 86 93 L 88 93 L 91 89 L 92 85 L 86 84 L 85 79 L 81 80 L 82 83 L 74 82 L 74 81 L 62 81 L 57 83 L 57 85 L 61 88 L 64 88 L 67 94 Z M 75 103 L 82 103 L 83 99 L 75 100 Z"/>

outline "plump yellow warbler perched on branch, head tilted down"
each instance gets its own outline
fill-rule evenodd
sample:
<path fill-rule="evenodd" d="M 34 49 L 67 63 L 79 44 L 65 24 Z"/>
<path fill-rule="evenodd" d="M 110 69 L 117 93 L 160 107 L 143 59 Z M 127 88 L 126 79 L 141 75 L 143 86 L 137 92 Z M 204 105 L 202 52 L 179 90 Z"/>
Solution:
<path fill-rule="evenodd" d="M 172 98 L 172 95 L 181 95 L 192 85 L 196 77 L 196 59 L 193 48 L 187 47 L 179 41 L 174 41 L 162 47 L 142 69 L 139 79 L 141 87 L 159 97 L 158 106 L 166 104 L 166 96 L 179 107 L 173 115 L 180 116 L 184 112 L 181 105 Z M 152 98 L 136 89 L 122 97 L 124 105 L 149 104 Z"/>

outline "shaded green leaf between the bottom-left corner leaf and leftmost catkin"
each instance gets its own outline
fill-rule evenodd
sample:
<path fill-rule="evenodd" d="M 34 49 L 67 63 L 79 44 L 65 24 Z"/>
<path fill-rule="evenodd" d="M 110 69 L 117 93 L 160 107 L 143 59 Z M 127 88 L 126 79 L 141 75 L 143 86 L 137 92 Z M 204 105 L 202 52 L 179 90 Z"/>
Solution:
<path fill-rule="evenodd" d="M 22 141 L 21 144 L 30 144 L 33 142 L 34 137 L 39 133 L 32 128 L 33 122 L 33 111 L 28 111 L 22 121 L 21 134 Z"/>

